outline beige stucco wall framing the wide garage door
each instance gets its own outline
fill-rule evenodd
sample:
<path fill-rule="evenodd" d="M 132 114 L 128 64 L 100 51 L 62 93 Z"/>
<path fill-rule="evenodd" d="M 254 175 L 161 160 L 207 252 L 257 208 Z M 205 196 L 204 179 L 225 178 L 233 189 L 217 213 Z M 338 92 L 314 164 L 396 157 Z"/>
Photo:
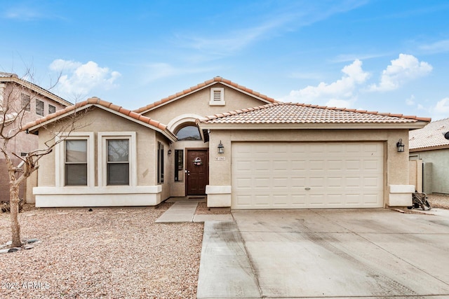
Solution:
<path fill-rule="evenodd" d="M 394 197 L 399 195 L 390 193 L 391 186 L 409 186 L 408 144 L 406 144 L 405 152 L 398 153 L 396 147 L 398 139 L 407 140 L 408 130 L 211 130 L 209 184 L 210 186 L 232 185 L 231 148 L 234 141 L 384 141 L 384 203 L 401 205 L 394 202 Z M 225 153 L 222 155 L 217 153 L 220 140 L 225 146 Z M 403 191 L 394 191 L 396 192 L 401 193 L 402 199 L 405 198 L 402 195 Z M 404 193 L 407 192 L 404 191 Z"/>

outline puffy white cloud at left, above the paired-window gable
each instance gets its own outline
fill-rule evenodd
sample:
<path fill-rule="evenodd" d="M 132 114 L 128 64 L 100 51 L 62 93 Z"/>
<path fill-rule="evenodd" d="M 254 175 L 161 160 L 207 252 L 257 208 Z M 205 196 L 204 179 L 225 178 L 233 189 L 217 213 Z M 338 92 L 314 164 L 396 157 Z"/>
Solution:
<path fill-rule="evenodd" d="M 110 90 L 116 87 L 114 82 L 121 76 L 118 71 L 99 67 L 92 61 L 82 64 L 71 60 L 54 60 L 49 67 L 52 71 L 60 72 L 56 88 L 64 97 L 88 95 L 94 89 Z"/>

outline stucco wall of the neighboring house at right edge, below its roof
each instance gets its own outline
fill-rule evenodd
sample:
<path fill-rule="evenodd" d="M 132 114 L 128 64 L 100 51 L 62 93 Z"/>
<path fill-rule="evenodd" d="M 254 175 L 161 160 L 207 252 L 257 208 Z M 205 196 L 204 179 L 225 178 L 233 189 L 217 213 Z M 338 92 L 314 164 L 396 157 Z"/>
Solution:
<path fill-rule="evenodd" d="M 431 192 L 449 194 L 449 148 L 413 152 L 424 163 L 431 163 Z"/>

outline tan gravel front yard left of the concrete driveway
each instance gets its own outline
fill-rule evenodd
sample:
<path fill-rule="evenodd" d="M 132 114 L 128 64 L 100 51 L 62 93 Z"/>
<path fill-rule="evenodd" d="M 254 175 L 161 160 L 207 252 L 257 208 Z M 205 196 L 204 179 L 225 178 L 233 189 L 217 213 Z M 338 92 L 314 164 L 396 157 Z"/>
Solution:
<path fill-rule="evenodd" d="M 20 213 L 34 248 L 0 254 L 0 298 L 195 298 L 202 223 L 154 223 L 171 204 Z M 11 239 L 0 213 L 0 244 Z"/>

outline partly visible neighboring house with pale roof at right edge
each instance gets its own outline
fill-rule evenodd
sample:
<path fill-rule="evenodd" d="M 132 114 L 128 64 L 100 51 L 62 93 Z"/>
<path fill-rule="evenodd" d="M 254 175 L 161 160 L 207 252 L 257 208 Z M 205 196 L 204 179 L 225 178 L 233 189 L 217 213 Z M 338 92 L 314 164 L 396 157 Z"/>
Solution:
<path fill-rule="evenodd" d="M 410 131 L 410 170 L 414 171 L 417 189 L 425 193 L 449 194 L 449 118 Z"/>

